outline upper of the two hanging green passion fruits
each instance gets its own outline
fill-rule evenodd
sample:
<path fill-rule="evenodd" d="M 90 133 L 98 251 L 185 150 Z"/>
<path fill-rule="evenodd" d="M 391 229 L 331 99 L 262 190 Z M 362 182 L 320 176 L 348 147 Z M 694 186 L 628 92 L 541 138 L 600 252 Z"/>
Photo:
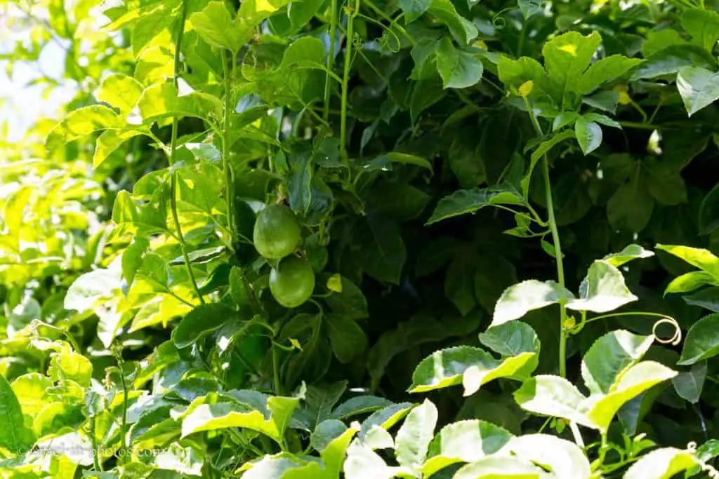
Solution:
<path fill-rule="evenodd" d="M 290 208 L 269 205 L 257 215 L 252 242 L 265 258 L 281 259 L 295 251 L 300 242 L 300 225 Z"/>

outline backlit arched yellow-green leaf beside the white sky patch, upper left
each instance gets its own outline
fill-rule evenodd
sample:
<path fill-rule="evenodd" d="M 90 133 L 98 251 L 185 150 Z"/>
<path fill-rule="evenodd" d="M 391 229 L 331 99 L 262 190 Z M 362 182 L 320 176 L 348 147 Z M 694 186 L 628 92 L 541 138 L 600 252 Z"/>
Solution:
<path fill-rule="evenodd" d="M 104 105 L 83 106 L 68 113 L 47 134 L 45 147 L 55 150 L 69 141 L 82 138 L 108 128 L 122 128 L 125 121 L 111 108 Z"/>

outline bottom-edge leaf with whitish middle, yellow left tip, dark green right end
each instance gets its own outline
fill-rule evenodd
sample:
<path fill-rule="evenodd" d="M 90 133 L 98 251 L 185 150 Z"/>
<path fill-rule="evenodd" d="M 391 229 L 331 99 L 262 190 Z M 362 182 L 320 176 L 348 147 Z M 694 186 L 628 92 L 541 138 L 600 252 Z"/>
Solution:
<path fill-rule="evenodd" d="M 447 424 L 429 445 L 421 473 L 429 477 L 457 462 L 475 462 L 493 455 L 512 438 L 506 429 L 477 419 Z"/>

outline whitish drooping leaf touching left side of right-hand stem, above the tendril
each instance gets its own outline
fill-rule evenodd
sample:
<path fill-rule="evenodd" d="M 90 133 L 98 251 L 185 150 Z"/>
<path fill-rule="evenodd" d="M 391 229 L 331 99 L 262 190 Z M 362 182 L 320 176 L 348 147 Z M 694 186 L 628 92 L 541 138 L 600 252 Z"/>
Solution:
<path fill-rule="evenodd" d="M 490 327 L 518 320 L 530 311 L 569 299 L 574 299 L 572 292 L 557 282 L 528 279 L 505 289 L 495 306 Z"/>

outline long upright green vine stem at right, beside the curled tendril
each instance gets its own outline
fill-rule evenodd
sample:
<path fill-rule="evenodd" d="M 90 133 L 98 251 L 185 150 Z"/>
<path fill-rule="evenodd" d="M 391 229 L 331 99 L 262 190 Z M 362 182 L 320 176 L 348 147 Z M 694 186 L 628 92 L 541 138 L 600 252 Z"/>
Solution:
<path fill-rule="evenodd" d="M 534 115 L 534 111 L 529 104 L 529 100 L 526 95 L 522 96 L 524 105 L 527 108 L 529 118 L 531 118 L 532 126 L 536 131 L 539 138 L 544 138 L 544 131 L 542 131 L 539 121 Z M 564 261 L 562 257 L 562 242 L 559 239 L 559 228 L 557 228 L 557 218 L 554 216 L 554 200 L 551 196 L 551 183 L 549 182 L 549 158 L 544 154 L 541 159 L 542 162 L 542 175 L 544 177 L 544 195 L 546 198 L 546 210 L 549 215 L 549 231 L 551 231 L 552 243 L 554 243 L 554 257 L 557 264 L 557 282 L 564 287 Z M 567 376 L 567 337 L 569 336 L 567 330 L 567 307 L 564 302 L 559 302 L 559 376 L 562 378 Z"/>

